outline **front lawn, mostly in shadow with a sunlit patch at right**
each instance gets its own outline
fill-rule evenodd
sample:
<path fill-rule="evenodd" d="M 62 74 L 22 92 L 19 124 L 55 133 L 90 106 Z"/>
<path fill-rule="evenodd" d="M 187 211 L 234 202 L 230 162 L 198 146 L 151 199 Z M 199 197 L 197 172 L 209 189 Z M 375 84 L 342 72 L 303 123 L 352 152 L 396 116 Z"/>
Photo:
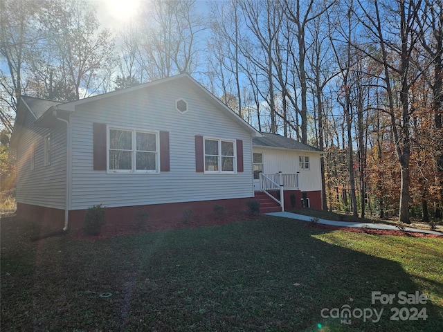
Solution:
<path fill-rule="evenodd" d="M 1 331 L 443 331 L 442 239 L 275 217 L 28 241 L 39 231 L 1 221 Z M 426 293 L 415 306 L 427 320 L 390 321 L 392 306 L 372 305 L 372 291 Z M 384 313 L 350 325 L 320 315 L 345 304 Z"/>

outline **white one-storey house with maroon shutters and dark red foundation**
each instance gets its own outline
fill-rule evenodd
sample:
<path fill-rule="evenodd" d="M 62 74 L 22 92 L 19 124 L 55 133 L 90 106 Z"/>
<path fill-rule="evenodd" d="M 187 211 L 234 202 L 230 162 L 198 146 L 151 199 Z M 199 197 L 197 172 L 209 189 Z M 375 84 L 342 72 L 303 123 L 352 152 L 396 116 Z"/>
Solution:
<path fill-rule="evenodd" d="M 187 74 L 75 102 L 23 96 L 11 138 L 17 213 L 66 230 L 98 204 L 111 223 L 139 210 L 151 219 L 179 217 L 186 207 L 210 213 L 215 204 L 245 210 L 257 190 L 253 154 L 266 174 L 312 175 L 294 190 L 318 190 L 318 151 L 271 146 L 270 137 Z M 311 158 L 305 169 L 290 160 L 298 156 Z"/>

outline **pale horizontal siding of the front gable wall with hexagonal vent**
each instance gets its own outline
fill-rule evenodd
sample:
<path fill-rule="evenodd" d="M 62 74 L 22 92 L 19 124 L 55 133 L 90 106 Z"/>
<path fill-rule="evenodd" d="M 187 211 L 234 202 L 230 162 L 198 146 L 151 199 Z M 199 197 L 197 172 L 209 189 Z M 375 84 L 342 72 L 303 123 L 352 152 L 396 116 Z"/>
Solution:
<path fill-rule="evenodd" d="M 201 98 L 191 86 L 168 82 L 76 107 L 72 115 L 72 209 L 235 199 L 253 196 L 251 133 Z M 186 113 L 176 101 L 186 100 Z M 170 171 L 109 174 L 93 170 L 93 122 L 109 128 L 168 131 Z M 196 172 L 195 136 L 243 140 L 244 172 Z M 237 165 L 234 165 L 237 167 Z"/>

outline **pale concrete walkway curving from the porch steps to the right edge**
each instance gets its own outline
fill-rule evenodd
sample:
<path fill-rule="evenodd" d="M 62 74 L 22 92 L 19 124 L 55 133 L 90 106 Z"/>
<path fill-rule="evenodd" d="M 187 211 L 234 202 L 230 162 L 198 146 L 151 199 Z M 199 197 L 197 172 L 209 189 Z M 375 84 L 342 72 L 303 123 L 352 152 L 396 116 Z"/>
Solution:
<path fill-rule="evenodd" d="M 291 212 L 271 212 L 266 213 L 268 216 L 282 216 L 284 218 L 289 219 L 297 219 L 302 221 L 311 221 L 312 216 L 305 216 L 303 214 L 295 214 Z M 358 223 L 358 222 L 352 222 L 352 221 L 332 221 L 332 220 L 326 220 L 326 219 L 318 219 L 319 223 L 323 223 L 325 225 L 333 225 L 333 226 L 340 226 L 340 227 L 356 227 L 356 228 L 373 228 L 375 230 L 399 230 L 394 225 L 385 225 L 383 223 Z M 418 228 L 409 228 L 405 227 L 404 230 L 406 232 L 419 232 L 419 233 L 426 233 L 426 234 L 434 234 L 434 235 L 443 235 L 442 232 L 436 232 L 433 230 L 420 230 Z"/>

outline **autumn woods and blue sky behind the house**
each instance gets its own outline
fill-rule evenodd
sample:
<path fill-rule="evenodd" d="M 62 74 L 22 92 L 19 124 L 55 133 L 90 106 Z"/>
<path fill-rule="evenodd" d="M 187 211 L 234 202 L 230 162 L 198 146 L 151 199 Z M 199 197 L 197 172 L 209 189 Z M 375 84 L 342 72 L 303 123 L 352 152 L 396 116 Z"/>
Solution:
<path fill-rule="evenodd" d="M 0 120 L 21 94 L 71 101 L 189 73 L 259 131 L 325 151 L 323 206 L 428 221 L 443 208 L 439 0 L 0 0 Z"/>

